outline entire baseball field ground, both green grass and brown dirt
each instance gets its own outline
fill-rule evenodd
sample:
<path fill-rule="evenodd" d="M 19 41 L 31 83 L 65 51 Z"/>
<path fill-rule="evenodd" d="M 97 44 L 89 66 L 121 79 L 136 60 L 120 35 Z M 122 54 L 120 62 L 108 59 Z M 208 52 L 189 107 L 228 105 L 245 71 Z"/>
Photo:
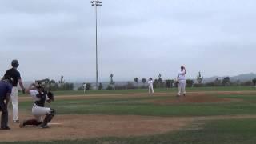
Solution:
<path fill-rule="evenodd" d="M 254 143 L 256 89 L 249 86 L 176 89 L 57 91 L 49 129 L 0 131 L 0 143 Z M 32 100 L 19 98 L 19 118 L 32 118 Z M 9 110 L 10 113 L 12 110 Z M 11 116 L 11 114 L 10 114 Z M 10 118 L 11 119 L 11 118 Z"/>

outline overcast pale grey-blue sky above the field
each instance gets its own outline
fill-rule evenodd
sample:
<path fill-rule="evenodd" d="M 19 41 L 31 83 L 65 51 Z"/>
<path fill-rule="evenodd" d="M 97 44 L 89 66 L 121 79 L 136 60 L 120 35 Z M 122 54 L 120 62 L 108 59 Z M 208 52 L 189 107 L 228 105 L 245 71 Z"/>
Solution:
<path fill-rule="evenodd" d="M 254 0 L 103 0 L 99 80 L 188 78 L 256 71 Z M 18 59 L 24 81 L 94 81 L 95 11 L 89 0 L 0 0 L 0 74 Z"/>

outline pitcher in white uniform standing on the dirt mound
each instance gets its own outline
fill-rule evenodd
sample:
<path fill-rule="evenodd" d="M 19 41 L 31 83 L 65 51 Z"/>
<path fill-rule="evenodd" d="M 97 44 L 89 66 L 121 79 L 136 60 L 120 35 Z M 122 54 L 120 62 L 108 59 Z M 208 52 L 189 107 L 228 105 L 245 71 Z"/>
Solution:
<path fill-rule="evenodd" d="M 181 66 L 181 71 L 178 72 L 178 94 L 180 96 L 186 96 L 186 68 L 185 66 Z"/>

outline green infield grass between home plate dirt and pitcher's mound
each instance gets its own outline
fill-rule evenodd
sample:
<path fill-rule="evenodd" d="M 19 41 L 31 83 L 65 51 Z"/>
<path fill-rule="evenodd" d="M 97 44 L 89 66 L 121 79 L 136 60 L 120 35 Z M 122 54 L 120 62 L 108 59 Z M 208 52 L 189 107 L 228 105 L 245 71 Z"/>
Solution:
<path fill-rule="evenodd" d="M 211 94 L 212 95 L 212 94 Z M 218 98 L 234 98 L 238 102 L 181 103 L 158 105 L 150 101 L 176 100 L 174 96 L 140 98 L 90 98 L 84 100 L 59 100 L 51 104 L 58 114 L 116 114 L 147 116 L 210 116 L 231 114 L 256 114 L 256 95 L 214 94 Z M 20 110 L 30 111 L 31 102 L 19 102 Z"/>

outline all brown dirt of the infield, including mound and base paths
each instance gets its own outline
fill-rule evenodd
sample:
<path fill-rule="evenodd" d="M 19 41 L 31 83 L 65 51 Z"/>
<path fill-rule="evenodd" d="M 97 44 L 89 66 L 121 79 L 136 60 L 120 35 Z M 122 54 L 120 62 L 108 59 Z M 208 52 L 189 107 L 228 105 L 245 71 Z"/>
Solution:
<path fill-rule="evenodd" d="M 174 104 L 177 102 L 235 102 L 236 99 L 217 98 L 214 92 L 192 92 L 186 98 L 173 98 L 165 101 L 150 101 L 156 104 Z M 217 92 L 218 94 L 255 94 L 255 92 Z M 175 97 L 175 94 L 158 93 L 155 96 Z M 56 99 L 90 99 L 90 98 L 140 98 L 147 94 L 98 94 L 58 96 Z M 31 101 L 29 97 L 20 98 L 21 101 Z M 11 110 L 10 110 L 11 111 Z M 10 114 L 11 116 L 11 114 Z M 21 119 L 31 118 L 30 112 L 20 114 Z M 228 118 L 256 118 L 256 115 L 211 116 L 211 117 L 150 117 L 135 115 L 57 115 L 49 129 L 38 127 L 19 128 L 18 124 L 10 122 L 12 130 L 0 130 L 0 140 L 3 141 L 49 141 L 63 139 L 101 138 L 101 137 L 129 137 L 150 134 L 164 134 L 175 130 L 190 128 L 193 122 L 200 120 L 228 119 Z M 11 118 L 10 118 L 11 120 Z M 42 137 L 43 136 L 43 137 Z"/>

